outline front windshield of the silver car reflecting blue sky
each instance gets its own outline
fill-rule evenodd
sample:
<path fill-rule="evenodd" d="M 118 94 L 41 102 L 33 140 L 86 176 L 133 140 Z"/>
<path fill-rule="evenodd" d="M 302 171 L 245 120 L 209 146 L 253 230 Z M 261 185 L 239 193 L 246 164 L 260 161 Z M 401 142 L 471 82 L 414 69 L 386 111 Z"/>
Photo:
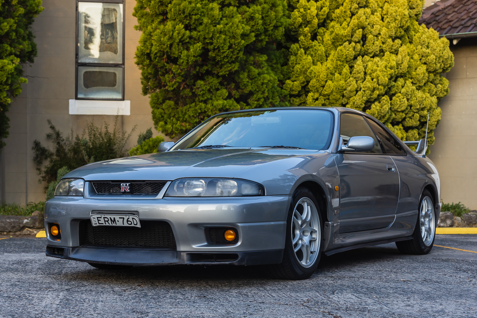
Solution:
<path fill-rule="evenodd" d="M 199 125 L 171 150 L 284 146 L 328 149 L 333 114 L 325 110 L 270 110 L 228 113 Z M 277 147 L 279 148 L 279 147 Z"/>

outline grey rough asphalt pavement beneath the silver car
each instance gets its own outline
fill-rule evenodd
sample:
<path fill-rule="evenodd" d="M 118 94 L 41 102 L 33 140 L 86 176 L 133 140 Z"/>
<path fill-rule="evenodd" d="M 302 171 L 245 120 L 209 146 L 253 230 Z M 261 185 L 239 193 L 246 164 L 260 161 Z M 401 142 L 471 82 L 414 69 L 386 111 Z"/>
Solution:
<path fill-rule="evenodd" d="M 436 245 L 477 252 L 477 235 Z M 477 253 L 394 243 L 322 259 L 301 281 L 266 267 L 162 266 L 123 271 L 46 257 L 45 238 L 0 240 L 0 317 L 477 317 Z"/>

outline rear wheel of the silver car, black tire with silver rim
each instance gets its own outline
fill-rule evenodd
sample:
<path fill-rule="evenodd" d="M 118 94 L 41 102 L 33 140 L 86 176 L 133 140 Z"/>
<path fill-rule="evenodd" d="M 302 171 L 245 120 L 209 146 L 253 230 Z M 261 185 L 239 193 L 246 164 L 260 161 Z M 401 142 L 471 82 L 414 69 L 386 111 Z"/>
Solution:
<path fill-rule="evenodd" d="M 437 220 L 435 206 L 436 203 L 430 192 L 424 190 L 418 205 L 419 212 L 412 235 L 413 239 L 396 242 L 399 252 L 403 254 L 425 255 L 431 251 L 436 239 Z"/>

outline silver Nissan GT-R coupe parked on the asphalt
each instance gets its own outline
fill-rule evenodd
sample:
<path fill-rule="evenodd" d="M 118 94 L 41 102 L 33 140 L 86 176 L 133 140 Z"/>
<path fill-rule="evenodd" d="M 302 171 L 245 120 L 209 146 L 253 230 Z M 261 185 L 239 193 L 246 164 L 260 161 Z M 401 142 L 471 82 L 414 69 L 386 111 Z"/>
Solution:
<path fill-rule="evenodd" d="M 408 143 L 408 142 L 406 142 Z M 87 164 L 46 203 L 46 255 L 98 268 L 268 265 L 309 277 L 322 253 L 431 250 L 439 174 L 366 113 L 221 113 L 156 154 Z M 412 143 L 412 142 L 411 142 Z"/>

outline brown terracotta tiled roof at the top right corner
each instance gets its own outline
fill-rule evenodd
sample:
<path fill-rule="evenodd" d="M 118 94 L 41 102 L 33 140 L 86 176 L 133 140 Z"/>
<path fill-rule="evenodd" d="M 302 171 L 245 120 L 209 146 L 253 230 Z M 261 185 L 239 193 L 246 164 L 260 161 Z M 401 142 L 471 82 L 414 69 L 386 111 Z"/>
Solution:
<path fill-rule="evenodd" d="M 424 23 L 439 34 L 450 35 L 477 31 L 477 0 L 442 0 L 423 10 Z"/>

